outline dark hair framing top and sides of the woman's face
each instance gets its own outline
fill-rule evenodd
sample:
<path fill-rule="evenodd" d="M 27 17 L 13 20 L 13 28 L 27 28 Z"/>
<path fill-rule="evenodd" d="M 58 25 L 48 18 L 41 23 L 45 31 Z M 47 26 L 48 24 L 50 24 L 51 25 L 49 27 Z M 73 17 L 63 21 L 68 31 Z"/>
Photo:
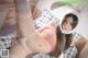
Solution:
<path fill-rule="evenodd" d="M 66 22 L 66 19 L 67 19 L 67 18 L 72 18 L 72 19 L 73 19 L 74 22 L 72 23 L 72 26 L 73 26 L 73 28 L 75 28 L 76 25 L 77 25 L 77 23 L 78 23 L 78 18 L 77 18 L 77 15 L 76 15 L 76 14 L 73 14 L 73 13 L 66 14 L 64 21 L 62 22 L 62 25 L 63 25 L 64 22 Z"/>

